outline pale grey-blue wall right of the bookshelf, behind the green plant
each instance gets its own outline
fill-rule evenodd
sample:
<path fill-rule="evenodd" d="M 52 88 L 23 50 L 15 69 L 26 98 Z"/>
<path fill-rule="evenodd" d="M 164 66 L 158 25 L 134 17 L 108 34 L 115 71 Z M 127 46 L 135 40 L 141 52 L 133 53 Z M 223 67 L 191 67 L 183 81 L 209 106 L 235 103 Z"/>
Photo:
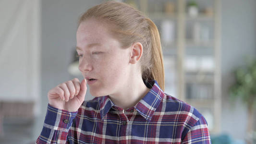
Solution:
<path fill-rule="evenodd" d="M 222 119 L 221 131 L 234 138 L 246 136 L 246 108 L 231 105 L 228 88 L 232 71 L 244 65 L 244 56 L 256 57 L 256 0 L 222 0 Z"/>

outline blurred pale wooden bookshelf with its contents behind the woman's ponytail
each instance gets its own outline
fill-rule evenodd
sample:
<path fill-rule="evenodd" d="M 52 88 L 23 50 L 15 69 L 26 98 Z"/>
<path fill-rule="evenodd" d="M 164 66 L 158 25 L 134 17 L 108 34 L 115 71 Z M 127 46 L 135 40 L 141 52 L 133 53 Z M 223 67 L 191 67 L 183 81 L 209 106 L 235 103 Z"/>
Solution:
<path fill-rule="evenodd" d="M 210 133 L 218 133 L 221 4 L 220 0 L 193 1 L 197 12 L 191 0 L 122 0 L 144 12 L 158 26 L 165 92 L 197 108 L 207 119 Z"/>

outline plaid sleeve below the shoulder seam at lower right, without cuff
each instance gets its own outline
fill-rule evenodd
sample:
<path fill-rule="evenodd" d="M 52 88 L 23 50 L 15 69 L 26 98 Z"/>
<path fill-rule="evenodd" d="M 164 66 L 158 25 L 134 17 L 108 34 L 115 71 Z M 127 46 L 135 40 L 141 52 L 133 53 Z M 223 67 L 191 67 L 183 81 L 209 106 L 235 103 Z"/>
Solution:
<path fill-rule="evenodd" d="M 187 132 L 182 144 L 211 144 L 207 121 L 201 116 L 195 125 Z"/>

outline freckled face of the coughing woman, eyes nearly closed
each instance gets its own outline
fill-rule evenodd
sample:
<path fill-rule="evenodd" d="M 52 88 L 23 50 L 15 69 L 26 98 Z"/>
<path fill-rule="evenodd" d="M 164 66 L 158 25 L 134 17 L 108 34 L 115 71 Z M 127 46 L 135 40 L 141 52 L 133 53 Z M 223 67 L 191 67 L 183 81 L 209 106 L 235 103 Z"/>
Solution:
<path fill-rule="evenodd" d="M 77 29 L 76 40 L 79 70 L 92 96 L 113 95 L 125 87 L 131 51 L 121 48 L 110 35 L 108 25 L 95 19 L 85 20 Z"/>

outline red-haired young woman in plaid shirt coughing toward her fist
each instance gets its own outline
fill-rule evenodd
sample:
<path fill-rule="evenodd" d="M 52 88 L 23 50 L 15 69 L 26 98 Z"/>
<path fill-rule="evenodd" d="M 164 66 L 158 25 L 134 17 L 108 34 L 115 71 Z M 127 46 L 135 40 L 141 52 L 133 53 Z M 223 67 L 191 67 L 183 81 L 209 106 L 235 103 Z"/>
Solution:
<path fill-rule="evenodd" d="M 210 144 L 205 118 L 164 93 L 160 38 L 149 18 L 108 1 L 85 12 L 78 25 L 85 79 L 49 90 L 37 144 Z M 95 96 L 89 101 L 86 84 Z"/>

